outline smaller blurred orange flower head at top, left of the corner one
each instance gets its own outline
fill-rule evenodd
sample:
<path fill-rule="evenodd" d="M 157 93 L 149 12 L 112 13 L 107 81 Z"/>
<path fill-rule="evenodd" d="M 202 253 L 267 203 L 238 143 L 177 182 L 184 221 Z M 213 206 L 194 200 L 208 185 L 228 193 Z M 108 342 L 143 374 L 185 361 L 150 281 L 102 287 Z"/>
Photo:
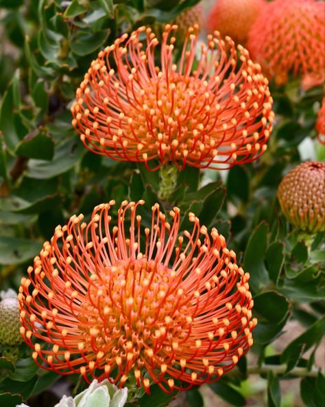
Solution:
<path fill-rule="evenodd" d="M 209 13 L 206 30 L 218 30 L 245 45 L 250 28 L 266 4 L 265 0 L 217 0 Z"/>

